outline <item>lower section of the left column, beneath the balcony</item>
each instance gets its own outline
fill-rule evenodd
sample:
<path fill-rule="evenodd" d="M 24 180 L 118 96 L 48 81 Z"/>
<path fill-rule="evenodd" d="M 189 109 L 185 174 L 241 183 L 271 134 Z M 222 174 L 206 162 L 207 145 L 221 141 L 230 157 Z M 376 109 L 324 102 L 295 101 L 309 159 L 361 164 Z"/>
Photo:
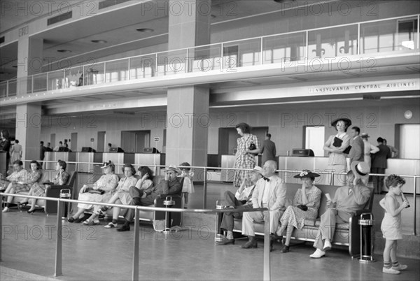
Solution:
<path fill-rule="evenodd" d="M 41 105 L 22 104 L 16 106 L 16 139 L 19 140 L 23 148 L 22 159 L 39 159 L 41 123 Z"/>

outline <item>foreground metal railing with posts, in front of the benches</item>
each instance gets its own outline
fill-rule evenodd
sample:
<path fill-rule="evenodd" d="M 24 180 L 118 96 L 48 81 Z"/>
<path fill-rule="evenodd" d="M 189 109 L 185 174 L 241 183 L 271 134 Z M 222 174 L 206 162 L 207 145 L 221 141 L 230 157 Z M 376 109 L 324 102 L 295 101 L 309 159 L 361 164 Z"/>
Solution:
<path fill-rule="evenodd" d="M 80 201 L 74 199 L 61 199 L 61 198 L 52 198 L 52 197 L 41 197 L 41 196 L 29 196 L 22 194 L 7 194 L 0 192 L 0 206 L 3 203 L 3 196 L 13 196 L 13 197 L 25 197 L 29 199 L 41 199 L 48 201 L 57 202 L 57 240 L 55 245 L 55 273 L 54 276 L 62 276 L 62 211 L 64 209 L 63 203 L 86 203 L 92 205 L 103 206 L 103 202 L 92 202 L 92 201 Z M 158 207 L 144 207 L 144 206 L 131 206 L 115 203 L 106 203 L 106 206 L 134 209 L 134 249 L 133 249 L 133 264 L 132 264 L 132 280 L 139 280 L 139 245 L 140 245 L 140 227 L 139 227 L 139 211 L 148 210 L 148 211 L 162 211 L 167 212 L 167 208 L 158 208 Z M 256 212 L 262 211 L 265 212 L 267 216 L 264 222 L 264 268 L 263 268 L 263 278 L 262 280 L 271 280 L 271 270 L 270 270 L 270 252 L 269 252 L 269 212 L 267 208 L 254 208 L 254 209 L 237 209 L 237 212 Z M 170 212 L 232 212 L 232 209 L 180 209 L 180 208 L 170 208 Z M 0 236 L 3 237 L 3 212 L 0 211 Z M 0 240 L 0 261 L 2 261 L 2 240 Z"/>

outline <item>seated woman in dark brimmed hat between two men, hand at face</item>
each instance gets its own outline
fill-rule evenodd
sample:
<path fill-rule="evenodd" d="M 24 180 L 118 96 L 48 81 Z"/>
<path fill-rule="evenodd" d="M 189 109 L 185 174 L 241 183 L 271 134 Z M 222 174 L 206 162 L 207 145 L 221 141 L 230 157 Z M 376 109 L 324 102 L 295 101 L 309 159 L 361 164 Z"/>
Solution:
<path fill-rule="evenodd" d="M 302 173 L 293 177 L 300 178 L 302 189 L 297 190 L 293 199 L 293 206 L 288 206 L 280 218 L 281 228 L 277 231 L 277 234 L 281 236 L 287 227 L 286 242 L 281 250 L 283 253 L 289 251 L 293 227 L 300 230 L 304 226 L 305 219 L 316 219 L 318 217 L 321 190 L 313 185 L 316 177 L 319 177 L 319 175 L 309 170 L 303 170 Z"/>

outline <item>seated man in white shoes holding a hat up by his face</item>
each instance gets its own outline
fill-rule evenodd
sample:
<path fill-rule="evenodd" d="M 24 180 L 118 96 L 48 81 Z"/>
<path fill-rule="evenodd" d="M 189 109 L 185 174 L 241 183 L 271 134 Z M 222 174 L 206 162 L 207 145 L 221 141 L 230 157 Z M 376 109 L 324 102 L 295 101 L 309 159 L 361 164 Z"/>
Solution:
<path fill-rule="evenodd" d="M 321 215 L 321 223 L 316 234 L 314 247 L 316 251 L 310 257 L 318 259 L 331 249 L 336 223 L 348 223 L 357 210 L 361 210 L 370 197 L 370 190 L 363 185 L 360 171 L 367 171 L 365 162 L 353 162 L 351 171 L 346 175 L 347 185 L 339 187 L 334 199 L 327 200 L 328 209 Z"/>

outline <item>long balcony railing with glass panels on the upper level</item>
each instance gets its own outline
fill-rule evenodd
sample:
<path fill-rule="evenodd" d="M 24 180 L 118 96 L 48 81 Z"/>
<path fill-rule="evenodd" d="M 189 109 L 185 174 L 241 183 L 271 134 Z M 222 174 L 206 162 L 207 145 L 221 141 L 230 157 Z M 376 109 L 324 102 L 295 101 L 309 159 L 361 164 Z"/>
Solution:
<path fill-rule="evenodd" d="M 0 98 L 180 73 L 230 72 L 262 64 L 415 52 L 419 50 L 419 17 L 341 24 L 85 64 L 1 82 Z"/>

